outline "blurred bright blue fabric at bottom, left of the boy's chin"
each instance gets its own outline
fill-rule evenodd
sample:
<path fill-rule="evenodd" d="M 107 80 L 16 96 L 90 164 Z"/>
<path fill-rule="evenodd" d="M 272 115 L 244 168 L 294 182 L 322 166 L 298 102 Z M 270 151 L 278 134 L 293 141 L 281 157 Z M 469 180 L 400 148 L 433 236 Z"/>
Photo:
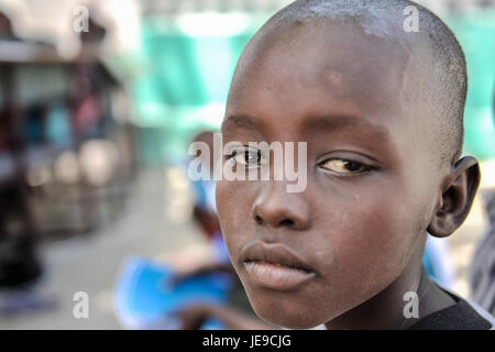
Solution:
<path fill-rule="evenodd" d="M 195 276 L 173 285 L 174 271 L 143 257 L 130 258 L 117 286 L 117 315 L 127 328 L 177 329 L 175 312 L 198 301 L 226 302 L 230 283 L 215 274 Z M 208 320 L 202 329 L 220 329 Z"/>

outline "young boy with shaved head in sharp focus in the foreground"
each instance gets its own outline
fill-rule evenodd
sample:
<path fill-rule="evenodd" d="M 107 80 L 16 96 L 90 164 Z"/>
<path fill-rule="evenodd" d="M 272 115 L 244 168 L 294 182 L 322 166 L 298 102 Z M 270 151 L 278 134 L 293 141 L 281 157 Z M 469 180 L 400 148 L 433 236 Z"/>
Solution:
<path fill-rule="evenodd" d="M 411 30 L 404 13 L 415 11 Z M 476 160 L 460 157 L 465 96 L 458 41 L 410 1 L 299 0 L 255 34 L 222 124 L 223 143 L 244 146 L 223 165 L 260 168 L 270 155 L 249 142 L 307 142 L 304 191 L 272 178 L 217 185 L 229 255 L 260 318 L 293 329 L 493 327 L 421 265 L 428 233 L 452 234 L 480 183 Z"/>

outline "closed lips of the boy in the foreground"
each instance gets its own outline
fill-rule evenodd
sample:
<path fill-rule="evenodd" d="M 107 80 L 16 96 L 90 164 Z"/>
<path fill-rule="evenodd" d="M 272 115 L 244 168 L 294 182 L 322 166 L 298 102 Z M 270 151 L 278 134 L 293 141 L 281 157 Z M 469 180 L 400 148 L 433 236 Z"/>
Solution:
<path fill-rule="evenodd" d="M 242 251 L 241 258 L 251 279 L 271 289 L 296 289 L 316 276 L 304 258 L 280 243 L 255 241 Z"/>

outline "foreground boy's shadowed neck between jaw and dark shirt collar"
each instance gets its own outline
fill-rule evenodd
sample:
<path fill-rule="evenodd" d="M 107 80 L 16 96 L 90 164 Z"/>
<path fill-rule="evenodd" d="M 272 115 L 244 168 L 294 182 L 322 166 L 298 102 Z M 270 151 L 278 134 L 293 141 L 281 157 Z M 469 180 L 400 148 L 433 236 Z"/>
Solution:
<path fill-rule="evenodd" d="M 418 318 L 406 318 L 404 300 L 407 292 L 417 293 Z M 452 306 L 455 300 L 438 287 L 421 264 L 405 271 L 393 284 L 373 298 L 326 323 L 329 330 L 407 329 L 419 319 Z"/>

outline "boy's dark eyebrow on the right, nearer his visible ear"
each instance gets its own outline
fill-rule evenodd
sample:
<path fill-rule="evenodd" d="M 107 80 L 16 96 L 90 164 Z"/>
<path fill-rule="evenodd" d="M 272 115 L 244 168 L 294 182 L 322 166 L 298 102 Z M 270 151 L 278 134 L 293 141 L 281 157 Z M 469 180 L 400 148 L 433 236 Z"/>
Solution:
<path fill-rule="evenodd" d="M 311 117 L 305 122 L 305 129 L 311 132 L 331 132 L 348 127 L 360 127 L 370 134 L 383 139 L 388 135 L 388 130 L 384 127 L 354 114 L 323 114 Z"/>

